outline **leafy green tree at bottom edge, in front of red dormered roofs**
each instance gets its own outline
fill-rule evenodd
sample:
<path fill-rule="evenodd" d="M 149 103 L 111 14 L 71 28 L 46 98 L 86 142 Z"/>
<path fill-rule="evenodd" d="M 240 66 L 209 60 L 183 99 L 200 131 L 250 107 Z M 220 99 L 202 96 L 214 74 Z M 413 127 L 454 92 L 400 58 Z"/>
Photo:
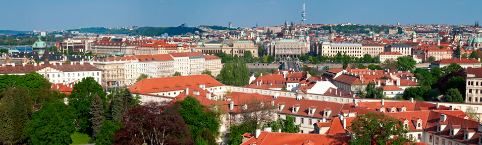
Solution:
<path fill-rule="evenodd" d="M 408 129 L 404 128 L 403 123 L 386 114 L 360 114 L 348 128 L 355 135 L 349 140 L 351 144 L 404 144 L 411 141 L 407 136 Z"/>

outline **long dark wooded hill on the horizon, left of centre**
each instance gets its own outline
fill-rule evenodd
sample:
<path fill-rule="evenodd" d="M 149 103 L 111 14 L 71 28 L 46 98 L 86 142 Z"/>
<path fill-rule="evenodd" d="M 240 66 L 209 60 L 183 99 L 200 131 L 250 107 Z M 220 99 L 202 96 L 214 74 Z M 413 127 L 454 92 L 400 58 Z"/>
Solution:
<path fill-rule="evenodd" d="M 144 36 L 160 36 L 161 34 L 168 33 L 170 35 L 181 35 L 187 32 L 191 32 L 194 34 L 195 31 L 204 32 L 201 29 L 193 28 L 193 27 L 139 27 L 134 30 L 128 29 L 108 29 L 108 28 L 80 28 L 80 29 L 72 29 L 67 30 L 71 31 L 79 31 L 84 33 L 97 33 L 97 34 L 107 34 L 110 32 L 111 34 L 129 34 L 135 35 L 136 30 L 139 31 L 139 35 Z"/>

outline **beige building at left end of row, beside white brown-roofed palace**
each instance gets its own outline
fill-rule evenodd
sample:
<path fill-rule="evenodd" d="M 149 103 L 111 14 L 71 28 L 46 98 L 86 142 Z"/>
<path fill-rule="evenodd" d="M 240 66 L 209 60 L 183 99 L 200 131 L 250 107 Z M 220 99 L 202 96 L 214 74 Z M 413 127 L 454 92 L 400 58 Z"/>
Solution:
<path fill-rule="evenodd" d="M 94 57 L 92 64 L 102 70 L 102 86 L 125 85 L 125 61 L 121 57 Z"/>

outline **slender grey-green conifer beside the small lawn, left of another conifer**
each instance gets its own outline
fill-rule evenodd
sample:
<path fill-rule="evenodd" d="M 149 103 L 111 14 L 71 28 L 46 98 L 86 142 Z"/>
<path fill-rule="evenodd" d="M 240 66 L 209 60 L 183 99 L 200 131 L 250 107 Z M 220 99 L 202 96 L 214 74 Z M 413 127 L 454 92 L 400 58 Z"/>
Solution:
<path fill-rule="evenodd" d="M 104 121 L 104 109 L 102 101 L 99 95 L 95 94 L 92 99 L 92 105 L 90 106 L 90 119 L 92 122 L 92 138 L 95 139 L 99 135 L 100 128 L 102 128 L 102 122 Z"/>

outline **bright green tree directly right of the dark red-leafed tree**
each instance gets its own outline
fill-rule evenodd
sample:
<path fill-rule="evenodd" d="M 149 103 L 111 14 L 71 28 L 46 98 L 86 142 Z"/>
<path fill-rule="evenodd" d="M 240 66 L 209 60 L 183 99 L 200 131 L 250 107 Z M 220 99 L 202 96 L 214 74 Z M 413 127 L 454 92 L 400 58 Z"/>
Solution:
<path fill-rule="evenodd" d="M 219 123 L 214 116 L 205 112 L 205 106 L 201 105 L 196 98 L 189 95 L 176 103 L 182 105 L 179 113 L 185 119 L 186 124 L 191 127 L 192 136 L 203 129 L 209 129 L 213 136 L 219 134 Z"/>

